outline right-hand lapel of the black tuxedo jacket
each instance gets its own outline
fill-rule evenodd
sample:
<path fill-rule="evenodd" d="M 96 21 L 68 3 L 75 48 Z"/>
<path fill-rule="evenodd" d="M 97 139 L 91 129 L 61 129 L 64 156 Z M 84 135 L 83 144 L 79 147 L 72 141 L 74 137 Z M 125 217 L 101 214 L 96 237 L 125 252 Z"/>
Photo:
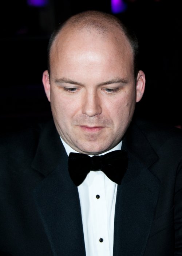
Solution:
<path fill-rule="evenodd" d="M 129 163 L 117 191 L 113 255 L 142 256 L 159 195 L 160 181 L 150 172 L 158 156 L 136 125 L 128 129 L 122 148 Z"/>

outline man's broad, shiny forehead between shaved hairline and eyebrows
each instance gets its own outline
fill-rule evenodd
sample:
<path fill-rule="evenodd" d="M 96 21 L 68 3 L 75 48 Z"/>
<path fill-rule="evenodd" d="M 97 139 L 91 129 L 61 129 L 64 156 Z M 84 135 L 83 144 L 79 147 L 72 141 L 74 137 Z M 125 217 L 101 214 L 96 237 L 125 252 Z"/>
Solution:
<path fill-rule="evenodd" d="M 87 60 L 87 63 L 120 63 L 133 66 L 133 51 L 121 29 L 99 30 L 65 27 L 56 36 L 50 52 L 50 67 Z"/>

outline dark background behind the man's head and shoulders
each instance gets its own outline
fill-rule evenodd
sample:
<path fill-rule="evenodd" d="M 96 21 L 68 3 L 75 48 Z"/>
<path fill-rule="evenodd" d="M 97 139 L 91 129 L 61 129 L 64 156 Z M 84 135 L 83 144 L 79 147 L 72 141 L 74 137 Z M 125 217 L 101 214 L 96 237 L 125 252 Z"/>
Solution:
<path fill-rule="evenodd" d="M 180 127 L 181 37 L 180 1 L 123 0 L 115 14 L 135 30 L 141 48 L 140 68 L 146 91 L 137 103 L 138 116 Z M 46 3 L 46 1 L 45 1 Z M 28 0 L 1 3 L 1 132 L 50 118 L 50 103 L 41 76 L 47 69 L 47 44 L 55 25 L 85 10 L 111 13 L 110 0 L 47 0 L 43 7 Z"/>

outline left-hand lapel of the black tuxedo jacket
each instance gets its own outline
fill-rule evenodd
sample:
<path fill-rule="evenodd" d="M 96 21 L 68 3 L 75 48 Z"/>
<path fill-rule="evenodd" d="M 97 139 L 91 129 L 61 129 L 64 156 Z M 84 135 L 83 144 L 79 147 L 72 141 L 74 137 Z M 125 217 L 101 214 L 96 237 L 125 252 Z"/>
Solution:
<path fill-rule="evenodd" d="M 84 256 L 78 189 L 70 179 L 67 161 L 54 125 L 48 125 L 41 134 L 32 163 L 45 176 L 34 190 L 35 203 L 53 255 Z"/>

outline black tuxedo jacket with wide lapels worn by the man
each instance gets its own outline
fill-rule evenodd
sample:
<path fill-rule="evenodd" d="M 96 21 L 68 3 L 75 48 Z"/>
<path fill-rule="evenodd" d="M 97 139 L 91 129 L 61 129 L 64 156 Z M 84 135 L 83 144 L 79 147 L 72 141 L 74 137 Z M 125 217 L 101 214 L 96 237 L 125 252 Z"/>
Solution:
<path fill-rule="evenodd" d="M 1 140 L 0 255 L 84 256 L 78 189 L 51 121 Z M 182 134 L 132 122 L 118 185 L 114 256 L 182 255 Z"/>

